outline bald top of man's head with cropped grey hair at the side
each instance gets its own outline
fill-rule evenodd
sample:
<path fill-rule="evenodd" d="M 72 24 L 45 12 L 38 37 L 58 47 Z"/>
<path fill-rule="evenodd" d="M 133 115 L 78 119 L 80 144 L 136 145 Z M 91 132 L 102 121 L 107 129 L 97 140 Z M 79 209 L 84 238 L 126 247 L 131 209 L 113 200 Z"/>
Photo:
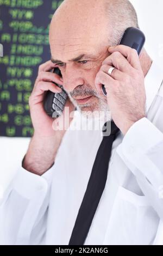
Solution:
<path fill-rule="evenodd" d="M 55 11 L 51 25 L 54 23 L 61 26 L 60 32 L 64 29 L 64 38 L 73 29 L 76 37 L 85 32 L 96 40 L 108 39 L 110 46 L 118 44 L 126 28 L 139 28 L 136 11 L 128 0 L 65 0 Z"/>

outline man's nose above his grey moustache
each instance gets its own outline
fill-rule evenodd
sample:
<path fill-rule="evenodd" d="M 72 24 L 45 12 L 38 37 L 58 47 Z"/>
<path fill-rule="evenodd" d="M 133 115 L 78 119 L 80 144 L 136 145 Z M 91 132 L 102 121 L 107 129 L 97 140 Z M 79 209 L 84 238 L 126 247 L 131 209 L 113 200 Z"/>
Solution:
<path fill-rule="evenodd" d="M 84 84 L 82 71 L 73 64 L 67 64 L 62 78 L 64 80 L 63 87 L 67 92 L 72 92 L 74 88 Z"/>

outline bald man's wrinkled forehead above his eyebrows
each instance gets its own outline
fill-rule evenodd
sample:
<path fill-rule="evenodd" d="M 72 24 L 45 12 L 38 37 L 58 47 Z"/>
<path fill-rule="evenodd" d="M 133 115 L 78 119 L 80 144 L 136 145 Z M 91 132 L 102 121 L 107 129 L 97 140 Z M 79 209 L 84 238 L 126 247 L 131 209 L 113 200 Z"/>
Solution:
<path fill-rule="evenodd" d="M 86 22 L 53 21 L 49 31 L 52 56 L 69 59 L 72 55 L 101 52 L 108 40 L 108 29 L 102 25 L 102 22 L 96 22 L 96 26 L 92 21 L 90 22 L 88 26 Z"/>

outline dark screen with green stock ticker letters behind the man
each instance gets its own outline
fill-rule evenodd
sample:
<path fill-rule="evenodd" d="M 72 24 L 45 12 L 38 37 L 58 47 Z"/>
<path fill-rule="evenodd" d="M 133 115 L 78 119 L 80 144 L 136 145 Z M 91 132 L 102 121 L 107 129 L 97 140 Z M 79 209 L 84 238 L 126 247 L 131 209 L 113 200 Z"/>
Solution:
<path fill-rule="evenodd" d="M 33 135 L 28 100 L 39 65 L 51 58 L 49 23 L 62 1 L 0 0 L 0 136 Z"/>

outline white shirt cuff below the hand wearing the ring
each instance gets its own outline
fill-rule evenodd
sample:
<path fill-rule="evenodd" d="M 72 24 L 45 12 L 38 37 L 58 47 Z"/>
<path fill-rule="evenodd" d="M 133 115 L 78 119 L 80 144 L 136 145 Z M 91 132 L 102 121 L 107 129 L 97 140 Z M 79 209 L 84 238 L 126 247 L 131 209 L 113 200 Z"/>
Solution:
<path fill-rule="evenodd" d="M 162 132 L 147 118 L 142 118 L 130 127 L 117 153 L 137 178 L 142 180 L 143 175 L 158 189 L 163 182 L 162 168 L 157 166 L 158 157 L 153 160 L 152 155 L 160 154 L 162 149 Z"/>

